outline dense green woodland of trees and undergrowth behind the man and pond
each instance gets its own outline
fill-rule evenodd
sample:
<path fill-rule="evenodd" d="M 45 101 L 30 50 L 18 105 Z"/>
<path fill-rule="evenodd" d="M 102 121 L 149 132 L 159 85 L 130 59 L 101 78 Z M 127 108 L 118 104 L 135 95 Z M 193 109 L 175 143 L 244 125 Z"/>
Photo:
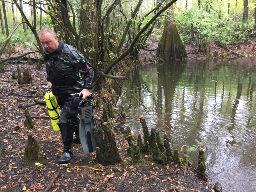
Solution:
<path fill-rule="evenodd" d="M 215 40 L 236 46 L 250 40 L 256 32 L 255 5 L 255 0 L 2 1 L 0 54 L 6 50 L 10 57 L 21 46 L 42 55 L 38 32 L 48 27 L 104 74 L 138 64 L 139 51 L 153 38 L 162 37 L 157 57 L 182 60 L 184 43 L 203 54 Z"/>

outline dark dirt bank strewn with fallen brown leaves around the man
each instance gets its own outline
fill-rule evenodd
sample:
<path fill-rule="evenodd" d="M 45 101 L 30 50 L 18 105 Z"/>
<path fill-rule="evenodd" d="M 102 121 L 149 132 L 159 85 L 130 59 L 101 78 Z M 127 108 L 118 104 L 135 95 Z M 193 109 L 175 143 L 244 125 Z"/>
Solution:
<path fill-rule="evenodd" d="M 75 157 L 67 165 L 57 163 L 62 153 L 60 132 L 51 128 L 48 118 L 34 118 L 34 130 L 24 127 L 24 110 L 33 104 L 33 97 L 42 94 L 46 82 L 44 67 L 36 70 L 36 64 L 19 64 L 21 71 L 28 69 L 34 84 L 18 84 L 12 79 L 16 65 L 5 66 L 0 80 L 0 186 L 2 191 L 44 191 L 51 179 L 60 171 L 50 191 L 207 191 L 212 183 L 200 180 L 191 170 L 175 165 L 157 165 L 150 159 L 136 165 L 126 154 L 128 144 L 121 133 L 116 133 L 119 152 L 128 164 L 102 166 L 94 162 L 95 153 L 85 155 L 80 144 L 73 144 Z M 23 95 L 23 96 L 22 96 Z M 96 98 L 102 97 L 95 94 Z M 33 116 L 45 116 L 42 105 L 26 107 Z M 96 110 L 100 117 L 102 111 Z M 118 119 L 112 119 L 118 121 Z M 139 121 L 139 119 L 138 119 Z M 114 128 L 113 128 L 114 129 Z M 40 160 L 23 162 L 27 137 L 33 134 L 40 146 Z M 97 169 L 97 170 L 95 170 Z"/>

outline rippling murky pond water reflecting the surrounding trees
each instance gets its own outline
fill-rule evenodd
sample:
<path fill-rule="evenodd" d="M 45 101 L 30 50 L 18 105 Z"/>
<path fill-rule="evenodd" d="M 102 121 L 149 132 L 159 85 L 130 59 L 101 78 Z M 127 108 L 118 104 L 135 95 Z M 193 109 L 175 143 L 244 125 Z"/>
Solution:
<path fill-rule="evenodd" d="M 150 65 L 128 74 L 117 107 L 143 134 L 139 116 L 171 147 L 207 141 L 207 174 L 224 191 L 256 189 L 256 58 Z M 184 154 L 180 151 L 180 154 Z M 189 154 L 197 167 L 197 153 Z"/>

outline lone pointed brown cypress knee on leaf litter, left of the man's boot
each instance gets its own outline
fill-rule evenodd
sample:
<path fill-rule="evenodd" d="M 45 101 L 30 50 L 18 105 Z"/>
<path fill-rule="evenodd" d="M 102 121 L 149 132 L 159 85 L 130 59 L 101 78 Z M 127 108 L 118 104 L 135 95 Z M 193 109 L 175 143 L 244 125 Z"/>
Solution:
<path fill-rule="evenodd" d="M 36 161 L 39 159 L 40 149 L 33 135 L 28 135 L 28 143 L 25 147 L 24 161 Z"/>

